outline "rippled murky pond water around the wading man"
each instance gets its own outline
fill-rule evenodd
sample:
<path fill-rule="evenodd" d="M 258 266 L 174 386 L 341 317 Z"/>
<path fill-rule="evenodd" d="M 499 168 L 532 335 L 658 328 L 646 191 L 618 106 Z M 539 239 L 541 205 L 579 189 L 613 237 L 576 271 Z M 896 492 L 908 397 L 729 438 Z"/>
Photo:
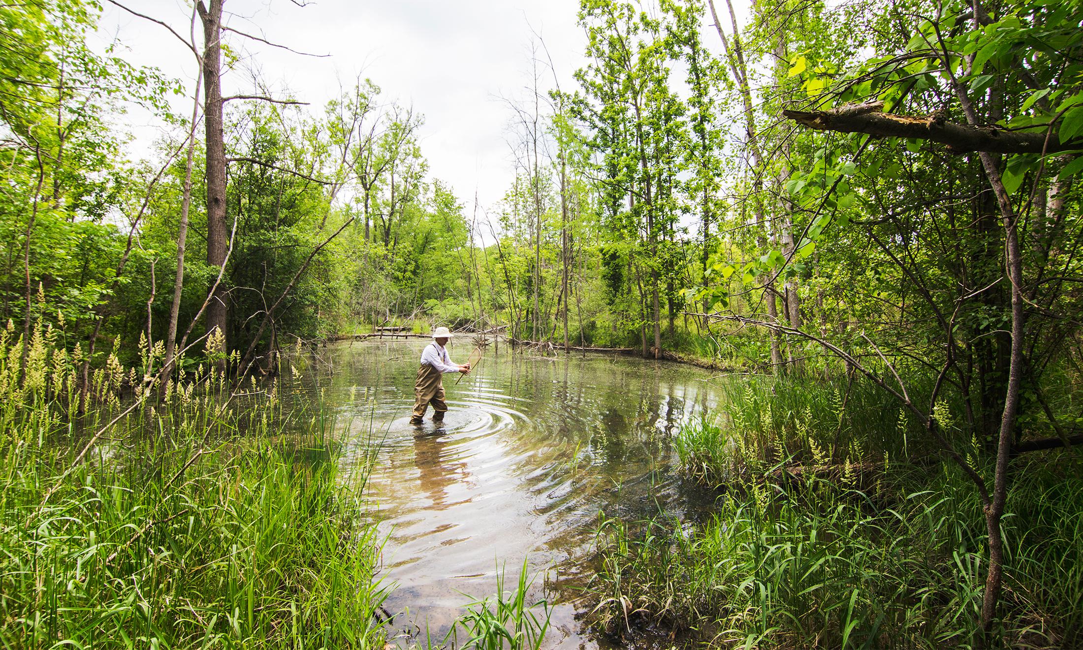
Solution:
<path fill-rule="evenodd" d="M 584 598 L 599 512 L 696 519 L 710 496 L 676 472 L 673 438 L 714 408 L 722 379 L 692 366 L 631 356 L 543 356 L 490 346 L 456 384 L 445 375 L 442 427 L 409 425 L 423 339 L 339 343 L 304 370 L 348 431 L 344 463 L 382 439 L 369 495 L 388 534 L 387 609 L 400 632 L 441 639 L 471 597 L 514 586 L 523 559 L 532 597 L 554 603 L 546 646 L 596 648 Z M 448 344 L 465 363 L 474 342 Z M 405 646 L 408 638 L 399 639 Z"/>

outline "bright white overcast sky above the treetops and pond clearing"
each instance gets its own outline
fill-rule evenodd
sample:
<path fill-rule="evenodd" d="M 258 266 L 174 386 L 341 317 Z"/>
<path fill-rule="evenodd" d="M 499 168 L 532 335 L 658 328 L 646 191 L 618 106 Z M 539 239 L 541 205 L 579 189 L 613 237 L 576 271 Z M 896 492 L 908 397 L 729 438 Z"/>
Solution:
<path fill-rule="evenodd" d="M 121 0 L 135 11 L 188 34 L 186 0 Z M 190 88 L 192 54 L 169 32 L 105 4 L 101 34 L 118 38 L 135 64 L 155 65 Z M 389 99 L 425 115 L 421 151 L 432 177 L 454 187 L 467 211 L 477 188 L 492 207 L 513 177 L 507 140 L 511 112 L 500 98 L 523 96 L 531 79 L 532 31 L 545 41 L 562 86 L 584 63 L 584 34 L 576 26 L 577 0 L 226 0 L 227 25 L 270 41 L 316 54 L 313 58 L 230 35 L 273 87 L 311 102 L 313 113 L 338 94 L 339 79 L 357 73 Z M 196 38 L 201 39 L 199 28 Z M 551 74 L 547 73 L 547 86 Z M 251 90 L 244 78 L 225 80 L 224 94 Z M 191 104 L 179 103 L 182 115 Z M 132 114 L 140 151 L 155 126 Z"/>

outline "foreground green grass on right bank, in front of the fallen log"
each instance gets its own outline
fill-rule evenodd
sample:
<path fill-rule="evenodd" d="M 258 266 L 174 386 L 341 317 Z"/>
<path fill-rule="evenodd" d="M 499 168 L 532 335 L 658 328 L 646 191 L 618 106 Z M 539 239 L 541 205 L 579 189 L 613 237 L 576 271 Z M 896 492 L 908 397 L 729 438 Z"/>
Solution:
<path fill-rule="evenodd" d="M 1081 468 L 1030 469 L 1005 517 L 1001 633 L 1016 648 L 1079 647 Z M 974 490 L 950 470 L 899 470 L 875 495 L 821 479 L 757 484 L 699 525 L 603 519 L 593 615 L 616 637 L 654 625 L 689 645 L 968 647 L 983 531 Z"/>

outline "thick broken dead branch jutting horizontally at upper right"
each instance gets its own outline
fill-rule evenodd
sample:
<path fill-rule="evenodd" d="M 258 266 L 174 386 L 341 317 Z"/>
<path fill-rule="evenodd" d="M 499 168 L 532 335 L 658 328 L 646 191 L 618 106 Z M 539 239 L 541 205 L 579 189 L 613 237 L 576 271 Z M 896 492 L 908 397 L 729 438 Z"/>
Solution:
<path fill-rule="evenodd" d="M 948 145 L 955 154 L 1052 154 L 1069 148 L 1056 133 L 1005 131 L 997 127 L 969 127 L 950 122 L 935 113 L 924 117 L 883 113 L 884 102 L 846 104 L 831 110 L 783 110 L 786 119 L 818 131 L 869 133 L 877 138 L 917 138 Z"/>

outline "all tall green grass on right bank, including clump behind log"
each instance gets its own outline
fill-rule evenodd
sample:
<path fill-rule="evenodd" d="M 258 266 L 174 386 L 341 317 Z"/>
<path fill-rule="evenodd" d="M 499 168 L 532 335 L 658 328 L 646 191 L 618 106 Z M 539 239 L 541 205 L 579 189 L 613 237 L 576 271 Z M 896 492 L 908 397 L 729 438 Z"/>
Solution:
<path fill-rule="evenodd" d="M 709 521 L 601 520 L 590 588 L 605 630 L 648 622 L 743 647 L 979 642 L 980 500 L 956 468 L 928 463 L 919 427 L 858 381 L 753 379 L 728 398 L 676 439 L 691 476 L 728 487 Z M 950 426 L 950 404 L 938 410 Z M 1083 646 L 1083 463 L 1058 451 L 1015 469 L 997 638 Z"/>

